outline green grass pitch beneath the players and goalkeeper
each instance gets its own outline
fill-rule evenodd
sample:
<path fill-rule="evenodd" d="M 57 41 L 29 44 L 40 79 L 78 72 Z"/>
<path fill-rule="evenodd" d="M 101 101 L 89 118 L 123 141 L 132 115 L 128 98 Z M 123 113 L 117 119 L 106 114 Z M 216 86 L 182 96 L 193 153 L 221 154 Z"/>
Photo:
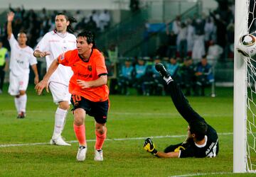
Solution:
<path fill-rule="evenodd" d="M 94 120 L 87 116 L 86 135 L 90 141 L 84 162 L 75 159 L 77 142 L 71 147 L 48 144 L 0 147 L 0 176 L 178 176 L 196 173 L 241 176 L 232 174 L 233 89 L 217 88 L 216 92 L 216 98 L 188 97 L 193 108 L 220 134 L 220 152 L 216 158 L 158 159 L 144 152 L 144 139 L 135 138 L 184 135 L 153 138 L 157 149 L 162 150 L 169 144 L 183 141 L 187 129 L 185 120 L 169 96 L 110 96 L 104 161 L 93 161 Z M 16 119 L 14 98 L 7 93 L 1 94 L 0 145 L 49 142 L 55 108 L 49 93 L 36 96 L 33 86 L 29 86 L 27 116 L 23 120 Z M 63 137 L 67 141 L 75 140 L 71 113 L 68 113 Z"/>

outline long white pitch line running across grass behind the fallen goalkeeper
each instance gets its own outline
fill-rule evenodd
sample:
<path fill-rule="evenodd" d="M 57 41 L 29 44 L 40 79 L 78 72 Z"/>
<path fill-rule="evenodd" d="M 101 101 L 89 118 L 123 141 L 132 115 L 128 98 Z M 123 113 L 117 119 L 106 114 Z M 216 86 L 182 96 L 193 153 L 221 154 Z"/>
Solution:
<path fill-rule="evenodd" d="M 233 132 L 226 133 L 218 133 L 218 135 L 233 135 Z M 154 139 L 160 138 L 169 138 L 169 137 L 186 137 L 186 135 L 166 135 L 166 136 L 155 136 L 150 137 Z M 131 137 L 131 138 L 113 138 L 113 139 L 105 139 L 105 141 L 129 141 L 129 140 L 138 140 L 138 139 L 146 139 L 148 137 Z M 95 142 L 95 139 L 88 139 L 87 142 Z M 69 143 L 78 142 L 77 140 L 68 141 Z M 22 147 L 22 146 L 36 146 L 36 145 L 47 145 L 48 142 L 35 142 L 35 143 L 26 143 L 26 144 L 0 144 L 0 147 Z"/>

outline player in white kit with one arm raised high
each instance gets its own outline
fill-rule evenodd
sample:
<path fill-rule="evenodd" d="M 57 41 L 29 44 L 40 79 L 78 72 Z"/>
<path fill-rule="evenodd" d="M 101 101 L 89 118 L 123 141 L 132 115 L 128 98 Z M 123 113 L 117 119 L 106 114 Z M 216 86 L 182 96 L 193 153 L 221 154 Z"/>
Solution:
<path fill-rule="evenodd" d="M 11 23 L 14 20 L 14 13 L 10 12 L 7 15 L 7 35 L 9 44 L 11 46 L 10 59 L 10 85 L 9 93 L 15 96 L 14 102 L 16 110 L 18 111 L 17 118 L 25 118 L 27 95 L 26 89 L 28 87 L 29 78 L 29 64 L 31 65 L 35 74 L 34 83 L 37 84 L 38 70 L 36 67 L 36 57 L 33 56 L 33 49 L 26 45 L 26 33 L 18 33 L 18 41 L 14 38 L 12 33 Z"/>

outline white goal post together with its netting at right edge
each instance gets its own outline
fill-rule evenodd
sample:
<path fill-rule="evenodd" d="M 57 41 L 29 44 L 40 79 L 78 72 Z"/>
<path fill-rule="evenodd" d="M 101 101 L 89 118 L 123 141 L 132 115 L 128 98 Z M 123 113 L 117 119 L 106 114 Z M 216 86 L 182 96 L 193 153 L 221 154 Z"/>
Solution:
<path fill-rule="evenodd" d="M 235 1 L 234 154 L 235 173 L 256 172 L 256 0 Z M 238 19 L 242 16 L 242 19 Z M 243 26 L 241 26 L 243 25 Z M 242 36 L 244 38 L 242 38 Z M 247 38 L 248 37 L 248 38 Z M 250 38 L 252 37 L 252 38 Z M 249 40 L 248 40 L 249 39 Z M 252 41 L 250 41 L 252 39 Z M 247 41 L 246 41 L 247 40 Z M 250 44 L 247 44 L 249 42 Z M 253 44 L 253 42 L 255 42 Z M 238 52 L 244 52 L 239 55 Z"/>

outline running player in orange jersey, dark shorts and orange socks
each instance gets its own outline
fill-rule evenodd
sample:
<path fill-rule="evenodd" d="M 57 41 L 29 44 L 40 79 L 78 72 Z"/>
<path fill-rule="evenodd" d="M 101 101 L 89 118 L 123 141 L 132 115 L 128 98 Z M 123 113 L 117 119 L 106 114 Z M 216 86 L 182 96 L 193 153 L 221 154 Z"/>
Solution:
<path fill-rule="evenodd" d="M 53 61 L 48 72 L 35 89 L 41 94 L 48 91 L 48 79 L 59 64 L 69 66 L 73 76 L 69 83 L 69 92 L 74 113 L 74 130 L 80 144 L 78 161 L 84 161 L 87 144 L 85 139 L 85 115 L 95 118 L 95 161 L 103 161 L 102 145 L 106 139 L 107 111 L 109 108 L 109 89 L 107 88 L 107 67 L 105 58 L 95 46 L 94 35 L 90 31 L 78 34 L 77 49 L 64 52 Z"/>

